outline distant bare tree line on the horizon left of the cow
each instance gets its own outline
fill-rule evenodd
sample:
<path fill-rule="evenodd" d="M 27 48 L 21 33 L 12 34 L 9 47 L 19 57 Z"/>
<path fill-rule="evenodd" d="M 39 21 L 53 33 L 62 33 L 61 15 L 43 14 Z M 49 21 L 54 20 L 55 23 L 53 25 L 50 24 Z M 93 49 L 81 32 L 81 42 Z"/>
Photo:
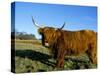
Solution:
<path fill-rule="evenodd" d="M 20 40 L 36 39 L 34 34 L 28 34 L 26 32 L 11 32 L 11 38 L 20 39 Z"/>

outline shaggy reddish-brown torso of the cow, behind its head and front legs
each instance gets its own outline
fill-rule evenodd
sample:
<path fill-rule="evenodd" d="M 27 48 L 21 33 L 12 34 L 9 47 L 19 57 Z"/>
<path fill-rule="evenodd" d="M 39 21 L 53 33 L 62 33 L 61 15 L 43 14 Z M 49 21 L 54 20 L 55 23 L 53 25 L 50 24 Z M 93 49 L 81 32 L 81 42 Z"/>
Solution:
<path fill-rule="evenodd" d="M 92 30 L 62 31 L 63 47 L 68 54 L 80 54 L 85 52 L 90 43 L 96 46 L 96 32 Z"/>

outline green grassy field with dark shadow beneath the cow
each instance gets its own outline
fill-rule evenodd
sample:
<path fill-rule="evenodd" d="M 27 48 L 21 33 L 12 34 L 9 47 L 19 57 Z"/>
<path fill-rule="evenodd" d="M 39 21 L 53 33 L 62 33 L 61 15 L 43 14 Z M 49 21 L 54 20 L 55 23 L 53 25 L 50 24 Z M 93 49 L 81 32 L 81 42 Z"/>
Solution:
<path fill-rule="evenodd" d="M 50 50 L 41 45 L 39 40 L 15 40 L 15 72 L 46 72 L 96 68 L 89 62 L 86 54 L 78 57 L 66 56 L 64 69 L 55 68 L 56 60 Z"/>

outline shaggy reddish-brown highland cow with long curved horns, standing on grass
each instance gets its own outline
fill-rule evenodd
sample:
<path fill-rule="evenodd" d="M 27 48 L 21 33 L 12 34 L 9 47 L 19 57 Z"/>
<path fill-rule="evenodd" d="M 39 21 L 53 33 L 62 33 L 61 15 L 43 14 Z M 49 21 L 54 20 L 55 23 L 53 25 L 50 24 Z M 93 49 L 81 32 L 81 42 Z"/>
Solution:
<path fill-rule="evenodd" d="M 38 26 L 34 19 L 32 21 Z M 80 55 L 82 53 L 87 53 L 91 62 L 97 64 L 97 33 L 92 30 L 62 30 L 64 25 L 60 29 L 52 27 L 38 29 L 42 35 L 43 46 L 50 48 L 54 56 L 57 57 L 56 66 L 58 68 L 64 67 L 65 55 Z"/>

